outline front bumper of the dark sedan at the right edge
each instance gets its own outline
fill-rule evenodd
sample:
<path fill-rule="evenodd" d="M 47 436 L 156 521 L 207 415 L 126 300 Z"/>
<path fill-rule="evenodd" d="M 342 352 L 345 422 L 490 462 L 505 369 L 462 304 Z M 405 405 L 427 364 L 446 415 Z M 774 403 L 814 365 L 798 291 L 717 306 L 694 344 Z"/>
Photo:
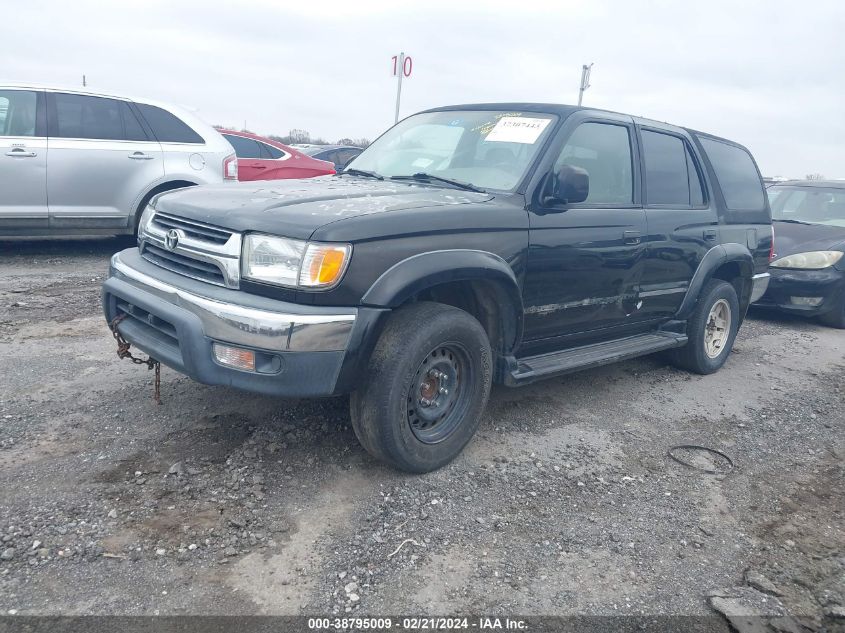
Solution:
<path fill-rule="evenodd" d="M 754 304 L 758 307 L 815 316 L 841 309 L 842 302 L 845 301 L 845 272 L 836 268 L 771 268 L 770 273 L 771 280 L 765 294 Z"/>

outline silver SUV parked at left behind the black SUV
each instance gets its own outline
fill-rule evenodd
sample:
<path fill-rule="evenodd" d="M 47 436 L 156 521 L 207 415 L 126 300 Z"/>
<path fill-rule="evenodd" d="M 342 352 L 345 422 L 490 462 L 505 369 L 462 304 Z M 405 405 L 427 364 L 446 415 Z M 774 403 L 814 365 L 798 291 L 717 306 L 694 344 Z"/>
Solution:
<path fill-rule="evenodd" d="M 190 112 L 0 85 L 0 235 L 132 234 L 154 195 L 237 177 L 232 146 Z"/>

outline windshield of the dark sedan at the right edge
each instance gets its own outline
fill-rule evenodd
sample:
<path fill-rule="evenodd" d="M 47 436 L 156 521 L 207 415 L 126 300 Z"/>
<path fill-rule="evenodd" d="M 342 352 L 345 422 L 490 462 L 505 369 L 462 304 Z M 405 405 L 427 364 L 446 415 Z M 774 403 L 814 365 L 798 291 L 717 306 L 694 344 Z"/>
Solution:
<path fill-rule="evenodd" d="M 769 187 L 773 220 L 845 227 L 845 187 Z"/>

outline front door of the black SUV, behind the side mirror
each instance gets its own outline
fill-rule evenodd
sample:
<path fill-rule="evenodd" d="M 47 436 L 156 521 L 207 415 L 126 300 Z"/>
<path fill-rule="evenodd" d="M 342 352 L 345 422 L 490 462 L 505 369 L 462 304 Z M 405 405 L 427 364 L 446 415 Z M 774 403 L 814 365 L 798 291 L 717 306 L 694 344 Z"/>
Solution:
<path fill-rule="evenodd" d="M 589 194 L 581 203 L 549 207 L 542 195 L 535 196 L 537 206 L 529 214 L 523 353 L 609 338 L 636 320 L 639 307 L 636 288 L 647 231 L 635 186 L 639 170 L 632 122 L 621 116 L 573 117 L 561 130 L 566 140 L 551 169 L 556 173 L 561 165 L 572 165 L 586 170 Z"/>

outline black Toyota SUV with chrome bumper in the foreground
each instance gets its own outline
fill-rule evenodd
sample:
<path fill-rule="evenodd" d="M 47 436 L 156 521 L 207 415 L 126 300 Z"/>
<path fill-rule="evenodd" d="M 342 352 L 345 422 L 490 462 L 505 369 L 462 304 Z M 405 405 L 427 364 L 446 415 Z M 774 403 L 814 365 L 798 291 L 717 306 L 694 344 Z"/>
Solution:
<path fill-rule="evenodd" d="M 740 145 L 508 103 L 411 116 L 335 176 L 161 195 L 138 243 L 103 287 L 127 341 L 207 384 L 349 393 L 361 444 L 425 472 L 493 382 L 663 350 L 716 371 L 772 233 Z"/>

